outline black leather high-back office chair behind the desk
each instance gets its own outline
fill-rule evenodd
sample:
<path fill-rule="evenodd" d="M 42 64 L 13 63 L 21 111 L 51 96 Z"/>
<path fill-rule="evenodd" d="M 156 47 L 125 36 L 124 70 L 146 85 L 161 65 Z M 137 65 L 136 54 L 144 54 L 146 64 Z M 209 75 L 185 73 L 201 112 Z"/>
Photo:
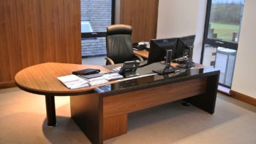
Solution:
<path fill-rule="evenodd" d="M 133 54 L 132 49 L 132 27 L 130 25 L 110 25 L 107 27 L 106 35 L 107 60 L 106 65 L 124 63 L 129 60 L 140 60 L 143 58 Z"/>

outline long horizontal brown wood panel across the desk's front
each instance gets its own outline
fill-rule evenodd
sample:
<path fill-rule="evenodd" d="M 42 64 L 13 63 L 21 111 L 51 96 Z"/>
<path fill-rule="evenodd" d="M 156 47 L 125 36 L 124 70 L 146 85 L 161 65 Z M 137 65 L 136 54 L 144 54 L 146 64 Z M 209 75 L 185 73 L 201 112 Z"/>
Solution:
<path fill-rule="evenodd" d="M 135 92 L 103 97 L 103 117 L 151 108 L 206 92 L 207 79 L 192 79 Z"/>

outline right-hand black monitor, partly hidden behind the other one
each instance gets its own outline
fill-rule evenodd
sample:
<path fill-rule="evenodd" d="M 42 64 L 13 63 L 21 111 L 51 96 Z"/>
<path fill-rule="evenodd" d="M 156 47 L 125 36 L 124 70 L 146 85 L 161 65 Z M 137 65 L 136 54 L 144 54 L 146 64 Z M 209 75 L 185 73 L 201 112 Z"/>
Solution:
<path fill-rule="evenodd" d="M 176 53 L 174 58 L 184 57 L 189 55 L 189 47 L 194 46 L 195 35 L 184 36 L 178 39 Z"/>

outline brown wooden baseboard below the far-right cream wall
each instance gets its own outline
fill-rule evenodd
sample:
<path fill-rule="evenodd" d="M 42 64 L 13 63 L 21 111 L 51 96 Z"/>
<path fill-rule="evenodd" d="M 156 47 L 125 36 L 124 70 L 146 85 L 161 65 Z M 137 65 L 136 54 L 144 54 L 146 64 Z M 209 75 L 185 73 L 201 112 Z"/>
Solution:
<path fill-rule="evenodd" d="M 248 103 L 249 105 L 255 105 L 256 106 L 256 99 L 253 97 L 249 97 L 248 95 L 241 94 L 239 92 L 230 90 L 230 97 L 235 98 L 236 100 L 240 100 L 244 103 Z"/>

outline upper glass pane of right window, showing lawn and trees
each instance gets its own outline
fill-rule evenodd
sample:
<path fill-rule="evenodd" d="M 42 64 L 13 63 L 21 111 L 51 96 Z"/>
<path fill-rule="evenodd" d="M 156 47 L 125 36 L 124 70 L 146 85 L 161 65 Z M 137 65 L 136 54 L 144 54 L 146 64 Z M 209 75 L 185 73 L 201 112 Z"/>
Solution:
<path fill-rule="evenodd" d="M 208 39 L 238 42 L 244 0 L 212 0 Z"/>

